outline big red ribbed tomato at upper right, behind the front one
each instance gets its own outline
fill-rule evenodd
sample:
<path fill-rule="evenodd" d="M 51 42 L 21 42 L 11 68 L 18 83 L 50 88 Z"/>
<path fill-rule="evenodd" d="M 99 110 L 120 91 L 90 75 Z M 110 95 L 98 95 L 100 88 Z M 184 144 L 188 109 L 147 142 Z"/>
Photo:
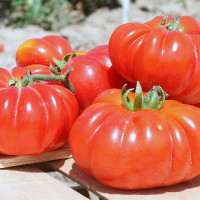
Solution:
<path fill-rule="evenodd" d="M 200 103 L 200 24 L 192 17 L 119 26 L 111 35 L 109 55 L 127 80 L 145 90 L 160 85 L 171 99 Z M 180 25 L 179 25 L 180 22 Z"/>

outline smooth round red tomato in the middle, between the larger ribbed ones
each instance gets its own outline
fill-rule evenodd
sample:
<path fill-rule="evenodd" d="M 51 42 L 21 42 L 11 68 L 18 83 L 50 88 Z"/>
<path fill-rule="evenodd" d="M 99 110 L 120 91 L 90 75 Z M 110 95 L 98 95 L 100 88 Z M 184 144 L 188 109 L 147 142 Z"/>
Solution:
<path fill-rule="evenodd" d="M 107 69 L 96 59 L 88 56 L 73 58 L 62 74 L 70 67 L 75 69 L 69 78 L 75 88 L 81 110 L 89 106 L 98 93 L 110 88 Z"/>

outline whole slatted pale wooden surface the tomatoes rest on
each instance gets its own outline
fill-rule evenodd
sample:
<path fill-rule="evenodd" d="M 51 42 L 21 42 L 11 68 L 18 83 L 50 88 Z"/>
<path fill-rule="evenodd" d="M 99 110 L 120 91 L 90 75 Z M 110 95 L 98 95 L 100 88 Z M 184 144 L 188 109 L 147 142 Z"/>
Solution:
<path fill-rule="evenodd" d="M 65 151 L 64 154 L 63 151 Z M 60 154 L 59 154 L 60 152 Z M 59 155 L 56 161 L 55 155 Z M 50 156 L 47 158 L 46 156 Z M 63 159 L 64 157 L 64 159 Z M 67 158 L 66 158 L 67 157 Z M 26 160 L 27 158 L 27 160 Z M 55 152 L 45 153 L 39 157 L 0 157 L 0 200 L 85 200 L 82 194 L 73 190 L 63 182 L 41 171 L 39 165 L 29 164 L 42 162 L 40 165 L 57 171 L 69 177 L 87 190 L 93 192 L 101 199 L 109 200 L 199 200 L 200 176 L 184 183 L 170 187 L 145 190 L 118 190 L 99 183 L 93 177 L 84 173 L 74 162 L 70 152 L 59 149 Z M 12 167 L 14 164 L 22 166 Z M 5 168 L 2 164 L 9 168 Z M 9 161 L 9 162 L 8 162 Z M 27 162 L 28 165 L 23 165 Z M 6 164 L 5 164 L 6 163 Z M 9 166 L 10 163 L 10 166 Z"/>

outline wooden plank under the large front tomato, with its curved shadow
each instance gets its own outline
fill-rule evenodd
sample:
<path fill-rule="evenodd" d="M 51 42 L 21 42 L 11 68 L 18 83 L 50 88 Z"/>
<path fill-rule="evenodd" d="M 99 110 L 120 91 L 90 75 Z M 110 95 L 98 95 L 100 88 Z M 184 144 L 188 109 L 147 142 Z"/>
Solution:
<path fill-rule="evenodd" d="M 69 176 L 83 187 L 96 193 L 102 199 L 110 200 L 199 200 L 200 176 L 174 186 L 143 189 L 143 190 L 119 190 L 109 188 L 93 177 L 84 173 L 74 162 L 73 158 L 61 161 L 48 162 L 48 166 Z"/>

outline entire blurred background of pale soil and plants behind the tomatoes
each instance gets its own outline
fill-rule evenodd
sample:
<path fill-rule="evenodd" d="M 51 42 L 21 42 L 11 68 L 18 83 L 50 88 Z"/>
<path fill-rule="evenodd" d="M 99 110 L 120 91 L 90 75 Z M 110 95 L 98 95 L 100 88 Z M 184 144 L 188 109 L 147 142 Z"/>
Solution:
<path fill-rule="evenodd" d="M 90 50 L 108 43 L 120 24 L 157 15 L 200 21 L 200 0 L 0 0 L 0 67 L 15 67 L 16 50 L 29 38 L 56 34 Z"/>

